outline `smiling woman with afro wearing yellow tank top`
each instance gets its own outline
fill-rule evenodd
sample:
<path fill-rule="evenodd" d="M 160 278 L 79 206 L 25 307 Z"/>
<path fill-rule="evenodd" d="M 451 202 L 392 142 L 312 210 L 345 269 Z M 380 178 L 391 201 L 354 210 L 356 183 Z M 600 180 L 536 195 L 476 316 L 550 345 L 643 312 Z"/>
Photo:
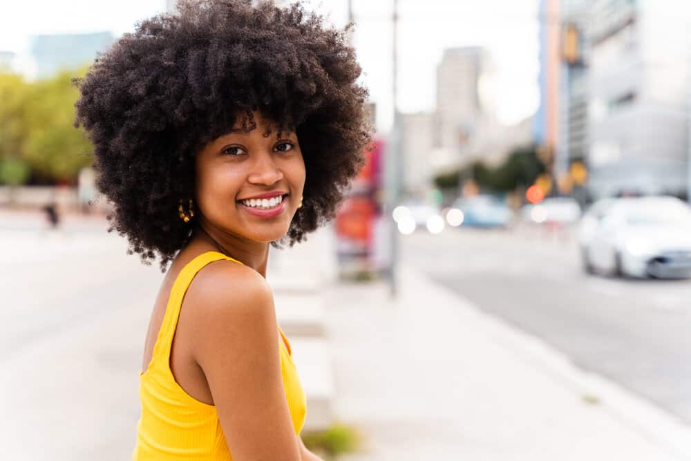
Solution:
<path fill-rule="evenodd" d="M 134 460 L 319 460 L 265 281 L 334 216 L 370 142 L 345 30 L 296 3 L 182 0 L 95 60 L 76 104 L 129 254 L 167 272 Z M 167 265 L 170 263 L 169 267 Z"/>

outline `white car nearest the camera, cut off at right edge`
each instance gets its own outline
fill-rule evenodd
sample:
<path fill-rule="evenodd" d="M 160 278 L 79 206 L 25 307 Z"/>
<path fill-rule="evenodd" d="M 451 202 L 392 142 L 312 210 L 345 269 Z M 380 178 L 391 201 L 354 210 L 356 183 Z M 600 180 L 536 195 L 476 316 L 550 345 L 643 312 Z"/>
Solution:
<path fill-rule="evenodd" d="M 674 197 L 599 200 L 578 229 L 590 274 L 691 277 L 691 209 Z"/>

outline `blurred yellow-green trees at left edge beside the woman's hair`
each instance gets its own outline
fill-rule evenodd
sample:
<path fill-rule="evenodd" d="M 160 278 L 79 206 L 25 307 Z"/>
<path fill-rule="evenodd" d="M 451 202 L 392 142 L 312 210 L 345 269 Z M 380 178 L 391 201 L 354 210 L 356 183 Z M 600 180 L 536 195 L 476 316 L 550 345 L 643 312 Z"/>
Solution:
<path fill-rule="evenodd" d="M 85 73 L 63 70 L 32 83 L 0 73 L 0 182 L 21 184 L 29 176 L 75 182 L 91 164 L 91 142 L 73 125 L 79 92 L 71 79 Z"/>

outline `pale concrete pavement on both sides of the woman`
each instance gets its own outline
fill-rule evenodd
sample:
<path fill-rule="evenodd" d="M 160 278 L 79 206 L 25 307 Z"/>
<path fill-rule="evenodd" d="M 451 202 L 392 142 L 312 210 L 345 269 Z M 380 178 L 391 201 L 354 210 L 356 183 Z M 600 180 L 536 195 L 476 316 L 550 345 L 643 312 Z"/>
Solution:
<path fill-rule="evenodd" d="M 10 251 L 9 234 L 0 233 Z M 21 241 L 23 251 L 1 264 L 1 336 L 12 333 L 21 347 L 0 357 L 0 452 L 12 460 L 127 459 L 162 274 L 124 254 L 115 234 L 52 238 Z M 382 283 L 336 283 L 332 249 L 323 229 L 272 254 L 272 264 L 322 281 L 334 409 L 368 440 L 365 453 L 345 460 L 691 458 L 688 427 L 413 267 L 401 267 L 397 300 Z M 21 316 L 25 308 L 32 317 Z"/>

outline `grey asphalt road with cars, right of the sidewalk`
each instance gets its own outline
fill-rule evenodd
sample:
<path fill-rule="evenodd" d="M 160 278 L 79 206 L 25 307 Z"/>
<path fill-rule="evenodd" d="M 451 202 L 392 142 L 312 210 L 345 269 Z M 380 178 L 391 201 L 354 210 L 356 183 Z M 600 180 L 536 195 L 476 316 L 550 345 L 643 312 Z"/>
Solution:
<path fill-rule="evenodd" d="M 570 232 L 447 228 L 400 247 L 485 312 L 691 422 L 691 281 L 589 276 Z"/>

